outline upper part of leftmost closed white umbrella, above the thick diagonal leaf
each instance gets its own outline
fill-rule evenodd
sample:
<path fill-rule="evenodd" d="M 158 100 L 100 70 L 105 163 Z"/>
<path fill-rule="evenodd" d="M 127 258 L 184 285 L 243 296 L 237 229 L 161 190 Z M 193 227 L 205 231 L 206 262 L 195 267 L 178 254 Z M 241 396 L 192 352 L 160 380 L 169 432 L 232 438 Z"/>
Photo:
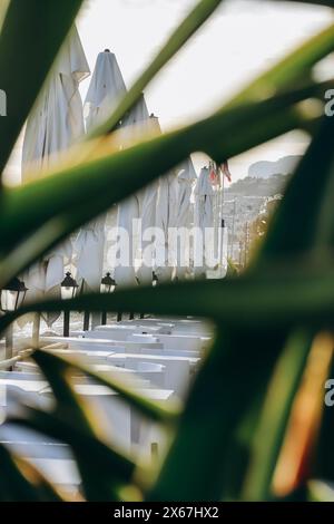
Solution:
<path fill-rule="evenodd" d="M 28 119 L 22 152 L 22 182 L 57 162 L 84 134 L 79 84 L 90 74 L 76 27 L 66 40 Z"/>

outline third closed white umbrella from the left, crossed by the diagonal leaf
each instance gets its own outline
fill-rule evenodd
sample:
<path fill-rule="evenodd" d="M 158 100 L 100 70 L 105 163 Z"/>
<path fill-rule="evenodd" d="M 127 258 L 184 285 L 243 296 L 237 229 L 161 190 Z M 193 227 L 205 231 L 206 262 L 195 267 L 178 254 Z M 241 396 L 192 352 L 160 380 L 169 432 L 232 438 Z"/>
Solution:
<path fill-rule="evenodd" d="M 125 128 L 124 136 L 129 142 L 151 129 L 144 95 L 124 119 L 122 126 Z M 132 285 L 137 282 L 137 278 L 139 283 L 149 283 L 153 280 L 155 245 L 154 239 L 145 239 L 145 233 L 147 234 L 148 230 L 156 225 L 157 194 L 158 183 L 154 182 L 118 206 L 117 225 L 128 232 L 130 242 L 129 265 L 118 265 L 115 270 L 118 285 Z M 141 231 L 138 229 L 139 223 Z M 139 240 L 141 240 L 140 243 Z M 137 266 L 134 255 L 137 260 Z"/>

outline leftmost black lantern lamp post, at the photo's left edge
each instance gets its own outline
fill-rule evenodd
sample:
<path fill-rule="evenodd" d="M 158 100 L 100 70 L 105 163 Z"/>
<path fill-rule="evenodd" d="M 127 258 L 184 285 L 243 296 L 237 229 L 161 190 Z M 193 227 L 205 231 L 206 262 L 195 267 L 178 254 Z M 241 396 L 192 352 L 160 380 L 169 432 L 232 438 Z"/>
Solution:
<path fill-rule="evenodd" d="M 24 282 L 14 278 L 6 288 L 1 290 L 1 310 L 6 313 L 17 311 L 22 303 L 28 289 Z M 6 332 L 6 360 L 12 358 L 13 350 L 13 330 L 12 324 L 9 326 Z"/>

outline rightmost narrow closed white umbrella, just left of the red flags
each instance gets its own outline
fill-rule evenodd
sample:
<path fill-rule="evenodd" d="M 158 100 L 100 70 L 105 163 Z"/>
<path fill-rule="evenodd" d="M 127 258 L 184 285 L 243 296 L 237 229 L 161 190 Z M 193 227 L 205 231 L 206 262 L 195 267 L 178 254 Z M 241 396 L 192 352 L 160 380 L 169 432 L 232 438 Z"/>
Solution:
<path fill-rule="evenodd" d="M 195 242 L 195 274 L 203 274 L 208 269 L 208 260 L 214 254 L 215 241 L 215 191 L 210 183 L 208 167 L 200 171 L 195 188 L 195 226 L 198 235 Z"/>

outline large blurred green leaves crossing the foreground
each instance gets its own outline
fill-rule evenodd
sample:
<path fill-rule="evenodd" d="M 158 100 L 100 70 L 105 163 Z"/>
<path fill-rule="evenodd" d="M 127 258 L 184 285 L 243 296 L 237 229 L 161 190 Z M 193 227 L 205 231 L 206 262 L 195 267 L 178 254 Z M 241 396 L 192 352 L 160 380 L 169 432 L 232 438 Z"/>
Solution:
<path fill-rule="evenodd" d="M 1 81 L 6 78 L 1 88 L 18 100 L 10 118 L 0 119 L 0 171 L 81 2 L 42 3 L 41 8 L 40 1 L 11 0 L 0 35 Z M 70 161 L 50 176 L 18 188 L 3 187 L 0 195 L 3 285 L 82 223 L 164 175 L 193 152 L 205 152 L 219 162 L 292 129 L 305 129 L 312 137 L 262 250 L 239 278 L 32 303 L 0 318 L 0 329 L 4 330 L 27 312 L 136 310 L 206 317 L 217 326 L 216 340 L 186 405 L 169 409 L 148 402 L 116 379 L 97 376 L 77 361 L 35 352 L 55 406 L 51 411 L 22 406 L 11 423 L 69 444 L 81 474 L 84 496 L 89 501 L 272 499 L 273 475 L 314 336 L 333 324 L 334 120 L 322 117 L 324 91 L 333 83 L 312 79 L 313 67 L 334 50 L 333 26 L 207 118 L 121 152 L 110 146 L 106 153 L 104 135 L 117 127 L 147 84 L 219 3 L 198 3 L 107 123 L 81 145 L 85 161 Z M 314 3 L 333 7 L 331 1 Z M 10 65 L 18 50 L 21 69 L 13 70 Z M 28 56 L 35 68 L 29 75 Z M 116 390 L 134 409 L 166 428 L 171 445 L 163 464 L 156 466 L 158 470 L 136 464 L 108 441 L 101 420 L 76 392 L 73 370 Z M 328 433 L 324 429 L 327 427 Z M 327 449 L 332 427 L 326 424 L 322 429 Z M 322 478 L 325 473 L 326 479 L 333 481 L 334 470 L 325 472 L 324 464 L 321 456 L 308 477 L 315 473 Z M 0 499 L 61 496 L 32 469 L 27 475 L 30 466 L 23 470 L 4 448 L 0 449 L 0 467 L 7 479 L 0 482 Z M 310 483 L 306 488 L 308 477 L 297 486 L 299 494 L 316 499 L 332 497 L 321 483 Z"/>

